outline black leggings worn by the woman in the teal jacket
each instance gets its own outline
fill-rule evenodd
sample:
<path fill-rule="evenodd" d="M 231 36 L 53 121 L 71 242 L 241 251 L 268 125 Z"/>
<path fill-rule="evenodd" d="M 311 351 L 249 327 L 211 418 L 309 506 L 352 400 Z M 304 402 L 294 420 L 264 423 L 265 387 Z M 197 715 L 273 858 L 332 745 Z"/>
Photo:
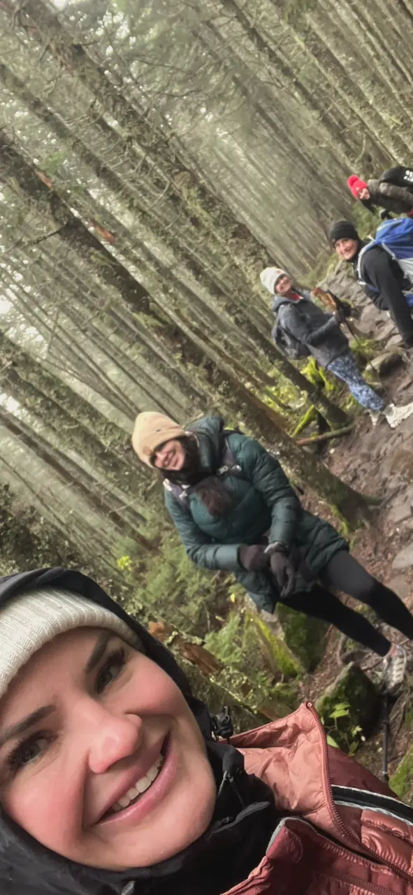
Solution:
<path fill-rule="evenodd" d="M 385 656 L 391 647 L 390 640 L 375 630 L 360 612 L 345 606 L 328 590 L 334 587 L 367 603 L 375 609 L 386 625 L 395 627 L 409 640 L 413 640 L 413 616 L 409 609 L 389 587 L 369 575 L 357 559 L 347 550 L 340 550 L 319 574 L 321 584 L 315 584 L 309 592 L 294 593 L 285 601 L 291 609 L 298 609 L 314 618 L 323 618 L 339 631 L 357 640 L 367 649 Z"/>

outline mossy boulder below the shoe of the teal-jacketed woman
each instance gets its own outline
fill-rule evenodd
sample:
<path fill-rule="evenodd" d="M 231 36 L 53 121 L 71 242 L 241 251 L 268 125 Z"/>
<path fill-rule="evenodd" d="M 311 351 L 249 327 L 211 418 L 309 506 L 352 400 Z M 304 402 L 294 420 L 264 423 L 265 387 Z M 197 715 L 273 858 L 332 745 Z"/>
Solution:
<path fill-rule="evenodd" d="M 375 685 L 354 662 L 342 669 L 316 702 L 327 734 L 344 752 L 350 753 L 371 732 L 378 707 Z"/>

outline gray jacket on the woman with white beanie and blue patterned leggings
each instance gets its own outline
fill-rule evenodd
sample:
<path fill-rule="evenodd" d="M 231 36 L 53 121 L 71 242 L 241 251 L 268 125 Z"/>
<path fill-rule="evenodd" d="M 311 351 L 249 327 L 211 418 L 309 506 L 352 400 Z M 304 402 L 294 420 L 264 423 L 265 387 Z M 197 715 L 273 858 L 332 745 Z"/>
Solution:
<path fill-rule="evenodd" d="M 333 314 L 321 311 L 311 302 L 307 291 L 299 294 L 299 301 L 292 301 L 286 295 L 274 296 L 272 310 L 277 314 L 278 326 L 306 345 L 320 366 L 328 367 L 349 350 L 349 341 Z"/>

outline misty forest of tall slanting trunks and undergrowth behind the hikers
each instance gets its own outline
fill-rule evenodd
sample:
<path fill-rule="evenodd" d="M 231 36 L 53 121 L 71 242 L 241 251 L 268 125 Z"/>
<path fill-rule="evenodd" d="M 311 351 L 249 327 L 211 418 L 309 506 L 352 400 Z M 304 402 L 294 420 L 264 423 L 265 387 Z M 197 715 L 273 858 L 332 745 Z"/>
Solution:
<path fill-rule="evenodd" d="M 348 407 L 277 353 L 259 272 L 316 283 L 347 176 L 411 158 L 412 24 L 411 0 L 0 0 L 1 572 L 88 571 L 265 717 L 320 626 L 190 566 L 131 427 L 222 413 L 337 524 L 366 514 L 291 439 Z"/>

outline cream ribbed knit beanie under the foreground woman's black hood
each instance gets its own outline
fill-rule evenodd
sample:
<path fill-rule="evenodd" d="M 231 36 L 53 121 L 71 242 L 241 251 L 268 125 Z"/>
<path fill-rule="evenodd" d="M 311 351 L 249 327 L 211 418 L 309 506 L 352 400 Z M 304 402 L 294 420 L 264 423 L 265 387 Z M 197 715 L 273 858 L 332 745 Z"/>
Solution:
<path fill-rule="evenodd" d="M 143 652 L 139 636 L 109 609 L 71 591 L 45 588 L 0 609 L 0 697 L 22 665 L 49 640 L 76 627 L 104 627 Z"/>

